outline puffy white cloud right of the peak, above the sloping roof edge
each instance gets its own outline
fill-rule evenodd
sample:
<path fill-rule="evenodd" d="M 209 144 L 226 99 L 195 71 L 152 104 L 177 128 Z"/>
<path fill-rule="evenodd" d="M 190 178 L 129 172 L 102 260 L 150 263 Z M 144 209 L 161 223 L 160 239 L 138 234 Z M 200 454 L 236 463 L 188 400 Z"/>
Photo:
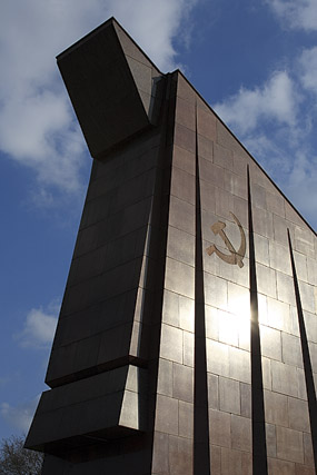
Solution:
<path fill-rule="evenodd" d="M 296 123 L 298 96 L 290 77 L 285 71 L 275 72 L 260 88 L 241 88 L 214 109 L 221 119 L 239 133 L 249 132 L 260 120 L 274 120 L 280 125 Z"/>

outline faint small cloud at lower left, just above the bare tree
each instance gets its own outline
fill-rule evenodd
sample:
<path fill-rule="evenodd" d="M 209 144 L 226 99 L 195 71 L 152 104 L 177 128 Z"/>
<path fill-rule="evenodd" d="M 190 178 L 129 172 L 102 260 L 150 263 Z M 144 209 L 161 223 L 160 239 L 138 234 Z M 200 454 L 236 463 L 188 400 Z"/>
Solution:
<path fill-rule="evenodd" d="M 10 426 L 21 431 L 22 433 L 27 433 L 31 425 L 39 399 L 40 395 L 38 395 L 34 399 L 24 404 L 20 404 L 16 407 L 8 403 L 1 403 L 1 416 Z"/>

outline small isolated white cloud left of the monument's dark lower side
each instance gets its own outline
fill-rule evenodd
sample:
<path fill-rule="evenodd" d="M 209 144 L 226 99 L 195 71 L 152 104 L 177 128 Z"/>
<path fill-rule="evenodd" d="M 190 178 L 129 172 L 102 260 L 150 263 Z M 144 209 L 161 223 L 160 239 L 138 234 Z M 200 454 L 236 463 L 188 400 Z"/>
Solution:
<path fill-rule="evenodd" d="M 53 303 L 47 311 L 32 308 L 26 318 L 23 330 L 14 338 L 22 347 L 47 348 L 53 339 L 59 307 Z"/>

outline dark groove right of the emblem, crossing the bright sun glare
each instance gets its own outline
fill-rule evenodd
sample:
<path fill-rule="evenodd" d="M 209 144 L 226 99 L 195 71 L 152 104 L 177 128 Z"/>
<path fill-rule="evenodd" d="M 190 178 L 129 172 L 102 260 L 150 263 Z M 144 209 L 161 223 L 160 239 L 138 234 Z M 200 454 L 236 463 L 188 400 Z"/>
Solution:
<path fill-rule="evenodd" d="M 265 427 L 265 405 L 258 315 L 258 288 L 254 240 L 252 202 L 249 167 L 248 178 L 248 222 L 249 222 L 249 273 L 250 273 L 250 349 L 251 349 L 251 405 L 252 405 L 252 473 L 267 475 L 267 446 Z"/>

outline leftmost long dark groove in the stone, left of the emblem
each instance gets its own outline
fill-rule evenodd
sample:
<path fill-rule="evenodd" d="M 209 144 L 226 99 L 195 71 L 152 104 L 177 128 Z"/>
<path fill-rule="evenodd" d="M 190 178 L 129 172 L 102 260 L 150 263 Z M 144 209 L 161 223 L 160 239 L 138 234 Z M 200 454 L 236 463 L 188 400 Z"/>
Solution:
<path fill-rule="evenodd" d="M 194 475 L 210 475 L 201 206 L 196 106 Z"/>

